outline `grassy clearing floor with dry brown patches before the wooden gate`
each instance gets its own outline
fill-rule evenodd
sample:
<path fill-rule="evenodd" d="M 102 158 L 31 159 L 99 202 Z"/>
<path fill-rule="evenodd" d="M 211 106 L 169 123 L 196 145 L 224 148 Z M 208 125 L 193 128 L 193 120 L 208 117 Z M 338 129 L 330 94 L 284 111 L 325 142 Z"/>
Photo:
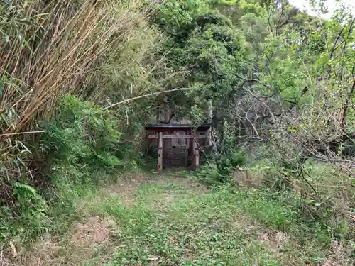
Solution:
<path fill-rule="evenodd" d="M 351 265 L 342 243 L 270 194 L 137 174 L 80 199 L 67 233 L 43 235 L 7 265 Z"/>

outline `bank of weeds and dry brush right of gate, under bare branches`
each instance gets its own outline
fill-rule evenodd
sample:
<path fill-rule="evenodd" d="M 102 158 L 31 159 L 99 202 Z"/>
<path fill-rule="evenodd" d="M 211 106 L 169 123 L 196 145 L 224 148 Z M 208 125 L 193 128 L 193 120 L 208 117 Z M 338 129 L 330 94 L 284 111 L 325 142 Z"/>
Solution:
<path fill-rule="evenodd" d="M 270 160 L 261 160 L 243 167 L 229 167 L 227 174 L 215 165 L 203 165 L 196 176 L 212 187 L 227 183 L 264 191 L 265 196 L 287 194 L 295 201 L 295 209 L 305 221 L 320 223 L 339 237 L 347 233 L 354 235 L 351 226 L 354 177 L 334 165 L 309 160 L 296 172 Z M 265 190 L 266 187 L 269 190 Z M 285 201 L 282 197 L 280 200 Z"/>

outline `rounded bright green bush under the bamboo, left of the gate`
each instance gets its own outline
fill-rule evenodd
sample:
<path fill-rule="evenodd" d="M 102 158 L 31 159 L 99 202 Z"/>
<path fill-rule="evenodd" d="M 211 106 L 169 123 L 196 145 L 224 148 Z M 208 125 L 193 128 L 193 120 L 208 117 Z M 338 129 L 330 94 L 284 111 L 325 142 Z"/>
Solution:
<path fill-rule="evenodd" d="M 114 152 L 119 147 L 119 125 L 99 106 L 74 96 L 62 99 L 55 119 L 43 125 L 41 148 L 62 165 L 78 168 L 120 164 Z"/>

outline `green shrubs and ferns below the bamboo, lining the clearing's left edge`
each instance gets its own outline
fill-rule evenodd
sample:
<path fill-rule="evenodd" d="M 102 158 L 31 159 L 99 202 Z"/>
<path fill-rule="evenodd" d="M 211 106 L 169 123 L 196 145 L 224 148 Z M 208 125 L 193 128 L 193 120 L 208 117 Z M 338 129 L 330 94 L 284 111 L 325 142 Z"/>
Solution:
<path fill-rule="evenodd" d="M 53 119 L 39 123 L 45 130 L 38 147 L 48 164 L 41 173 L 45 187 L 39 193 L 28 184 L 13 185 L 14 206 L 1 206 L 4 241 L 15 236 L 26 241 L 43 231 L 66 230 L 77 218 L 77 199 L 97 184 L 117 178 L 114 174 L 119 170 L 139 168 L 139 153 L 120 143 L 116 118 L 92 102 L 65 96 Z"/>

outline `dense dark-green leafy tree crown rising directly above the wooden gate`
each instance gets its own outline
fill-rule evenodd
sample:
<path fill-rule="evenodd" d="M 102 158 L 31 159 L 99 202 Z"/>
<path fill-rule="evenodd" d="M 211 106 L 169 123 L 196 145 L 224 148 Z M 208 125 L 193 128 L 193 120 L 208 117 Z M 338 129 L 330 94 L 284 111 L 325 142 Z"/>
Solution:
<path fill-rule="evenodd" d="M 185 113 L 196 113 L 187 106 L 203 109 L 206 100 L 219 101 L 234 89 L 238 82 L 234 73 L 243 67 L 241 60 L 244 60 L 245 45 L 243 36 L 229 18 L 212 8 L 216 3 L 190 2 L 174 1 L 172 4 L 165 1 L 159 8 L 160 15 L 155 23 L 168 33 L 163 47 L 170 64 L 176 71 L 188 67 L 187 78 L 175 86 L 190 87 L 191 90 L 171 95 L 173 99 L 170 98 L 167 104 L 183 104 Z M 183 23 L 160 23 L 161 16 L 165 21 L 176 19 L 174 12 L 167 12 L 167 5 L 173 5 L 175 13 L 184 14 L 181 18 Z"/>

